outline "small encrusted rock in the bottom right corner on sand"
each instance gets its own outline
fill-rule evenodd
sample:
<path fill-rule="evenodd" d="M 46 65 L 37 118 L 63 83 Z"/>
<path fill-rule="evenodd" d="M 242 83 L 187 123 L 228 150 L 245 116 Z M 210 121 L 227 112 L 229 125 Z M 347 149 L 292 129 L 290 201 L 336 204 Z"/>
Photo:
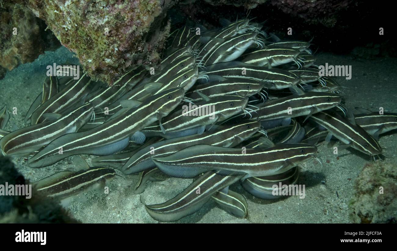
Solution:
<path fill-rule="evenodd" d="M 351 220 L 355 223 L 397 223 L 396 195 L 397 166 L 382 161 L 366 164 L 354 186 L 349 205 Z"/>

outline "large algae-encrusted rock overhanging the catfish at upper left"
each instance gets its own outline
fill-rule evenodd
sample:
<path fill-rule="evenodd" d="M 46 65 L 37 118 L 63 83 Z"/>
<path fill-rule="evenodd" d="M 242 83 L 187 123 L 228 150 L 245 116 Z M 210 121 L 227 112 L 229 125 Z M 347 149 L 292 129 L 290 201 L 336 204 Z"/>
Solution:
<path fill-rule="evenodd" d="M 29 0 L 94 79 L 112 83 L 131 64 L 156 63 L 168 36 L 171 0 Z"/>

